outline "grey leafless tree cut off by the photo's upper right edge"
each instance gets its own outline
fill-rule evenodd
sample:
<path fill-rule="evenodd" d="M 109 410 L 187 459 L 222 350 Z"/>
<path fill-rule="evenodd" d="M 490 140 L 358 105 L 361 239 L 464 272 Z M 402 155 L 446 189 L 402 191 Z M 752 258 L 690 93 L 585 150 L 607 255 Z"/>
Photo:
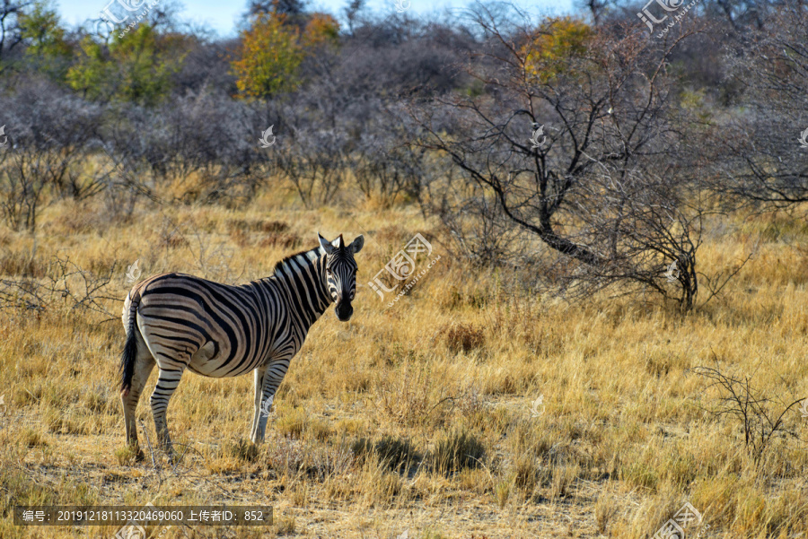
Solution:
<path fill-rule="evenodd" d="M 772 210 L 808 201 L 808 164 L 800 142 L 808 128 L 808 13 L 780 4 L 725 60 L 742 91 L 738 111 L 708 117 L 703 182 L 725 203 Z"/>

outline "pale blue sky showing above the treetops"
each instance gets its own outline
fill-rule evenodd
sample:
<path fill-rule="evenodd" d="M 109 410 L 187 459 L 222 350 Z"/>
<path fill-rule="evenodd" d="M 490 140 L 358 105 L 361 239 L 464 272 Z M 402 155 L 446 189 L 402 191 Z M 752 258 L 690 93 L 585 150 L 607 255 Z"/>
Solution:
<path fill-rule="evenodd" d="M 116 0 L 111 0 L 115 2 Z M 470 5 L 470 0 L 400 0 L 408 3 L 408 14 L 417 17 L 435 16 L 435 12 L 459 10 Z M 375 14 L 395 13 L 396 0 L 367 0 L 367 10 Z M 573 0 L 514 0 L 514 4 L 534 14 L 562 14 L 572 11 Z M 54 4 L 62 21 L 70 26 L 80 25 L 88 19 L 98 19 L 99 13 L 110 0 L 56 0 Z M 132 4 L 139 4 L 133 1 Z M 148 4 L 148 2 L 146 2 Z M 219 36 L 228 37 L 236 33 L 236 22 L 245 11 L 247 0 L 182 0 L 185 10 L 180 18 L 186 21 L 203 23 L 215 30 Z M 347 0 L 309 0 L 310 11 L 338 15 Z"/>

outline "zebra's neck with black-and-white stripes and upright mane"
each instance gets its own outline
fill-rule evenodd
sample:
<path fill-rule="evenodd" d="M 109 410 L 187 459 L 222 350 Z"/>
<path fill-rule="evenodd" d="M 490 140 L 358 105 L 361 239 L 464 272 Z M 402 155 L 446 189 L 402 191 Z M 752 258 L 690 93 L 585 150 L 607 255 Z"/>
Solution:
<path fill-rule="evenodd" d="M 273 274 L 284 283 L 295 313 L 309 326 L 333 303 L 325 277 L 325 257 L 322 248 L 287 256 L 277 263 Z"/>

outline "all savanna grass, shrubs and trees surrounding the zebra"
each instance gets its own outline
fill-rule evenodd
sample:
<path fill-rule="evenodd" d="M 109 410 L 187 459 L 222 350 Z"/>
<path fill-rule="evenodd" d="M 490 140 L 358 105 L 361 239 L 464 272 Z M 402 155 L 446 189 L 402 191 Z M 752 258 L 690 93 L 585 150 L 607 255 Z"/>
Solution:
<path fill-rule="evenodd" d="M 169 538 L 640 539 L 686 502 L 687 537 L 808 534 L 804 4 L 258 1 L 234 39 L 127 5 L 0 4 L 0 537 L 148 502 L 275 508 Z M 312 328 L 266 442 L 251 377 L 188 374 L 178 456 L 142 399 L 138 458 L 133 283 L 257 279 L 317 231 L 364 234 L 355 314 Z M 417 233 L 439 260 L 380 299 Z"/>

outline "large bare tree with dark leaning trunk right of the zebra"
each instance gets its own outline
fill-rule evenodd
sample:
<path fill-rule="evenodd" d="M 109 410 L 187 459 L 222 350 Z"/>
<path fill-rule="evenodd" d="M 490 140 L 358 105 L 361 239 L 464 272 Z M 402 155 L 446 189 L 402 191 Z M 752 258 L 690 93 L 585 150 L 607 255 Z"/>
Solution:
<path fill-rule="evenodd" d="M 517 26 L 485 7 L 476 16 L 486 52 L 470 75 L 482 92 L 415 107 L 424 145 L 448 155 L 486 199 L 496 197 L 479 208 L 498 208 L 574 261 L 565 263 L 567 285 L 634 283 L 669 295 L 675 263 L 679 300 L 692 308 L 704 211 L 684 204 L 692 178 L 676 150 L 687 117 L 669 114 L 675 78 L 667 65 L 687 32 L 659 49 L 629 29 L 615 37 L 565 20 Z M 572 44 L 542 60 L 548 38 Z"/>

